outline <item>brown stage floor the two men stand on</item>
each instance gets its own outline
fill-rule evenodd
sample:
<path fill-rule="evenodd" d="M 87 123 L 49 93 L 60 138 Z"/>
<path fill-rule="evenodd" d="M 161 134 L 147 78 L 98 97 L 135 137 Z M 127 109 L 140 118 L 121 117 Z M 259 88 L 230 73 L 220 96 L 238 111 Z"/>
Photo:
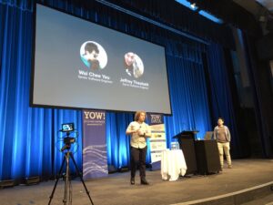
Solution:
<path fill-rule="evenodd" d="M 137 171 L 138 174 L 138 171 Z M 245 190 L 273 182 L 272 159 L 235 159 L 233 169 L 226 167 L 219 174 L 179 178 L 177 181 L 161 179 L 160 170 L 147 170 L 149 186 L 129 184 L 129 172 L 110 174 L 105 179 L 86 181 L 86 187 L 95 205 L 169 205 L 183 204 L 219 195 Z M 1 205 L 45 205 L 55 181 L 45 181 L 32 186 L 15 186 L 0 190 Z M 73 204 L 91 204 L 79 179 L 72 180 Z M 273 194 L 273 191 L 270 195 Z M 51 204 L 63 204 L 64 181 L 56 187 Z M 262 202 L 261 202 L 262 203 Z"/>

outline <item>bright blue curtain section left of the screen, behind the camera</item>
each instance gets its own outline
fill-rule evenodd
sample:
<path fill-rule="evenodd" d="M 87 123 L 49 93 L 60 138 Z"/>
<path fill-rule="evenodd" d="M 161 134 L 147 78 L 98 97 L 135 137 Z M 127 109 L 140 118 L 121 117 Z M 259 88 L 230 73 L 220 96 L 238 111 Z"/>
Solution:
<path fill-rule="evenodd" d="M 59 169 L 61 123 L 75 122 L 81 134 L 80 111 L 29 107 L 33 11 L 22 2 L 0 1 L 0 179 L 19 181 Z"/>

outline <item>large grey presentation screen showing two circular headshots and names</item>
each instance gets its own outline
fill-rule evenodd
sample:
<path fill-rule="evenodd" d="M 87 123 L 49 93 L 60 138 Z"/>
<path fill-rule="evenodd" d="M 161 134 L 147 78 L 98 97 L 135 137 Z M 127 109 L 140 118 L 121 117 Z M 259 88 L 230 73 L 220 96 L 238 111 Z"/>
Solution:
<path fill-rule="evenodd" d="M 32 106 L 171 114 L 165 47 L 36 5 Z"/>

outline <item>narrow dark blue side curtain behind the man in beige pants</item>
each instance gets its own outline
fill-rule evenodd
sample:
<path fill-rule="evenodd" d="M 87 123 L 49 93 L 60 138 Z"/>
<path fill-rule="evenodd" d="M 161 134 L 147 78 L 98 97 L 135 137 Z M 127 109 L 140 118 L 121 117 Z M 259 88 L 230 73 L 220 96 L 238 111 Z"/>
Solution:
<path fill-rule="evenodd" d="M 238 128 L 232 103 L 231 89 L 228 82 L 227 68 L 222 46 L 211 44 L 207 48 L 208 77 L 211 88 L 212 119 L 217 125 L 217 118 L 224 118 L 225 124 L 230 129 L 231 153 L 233 156 L 243 156 L 240 149 Z"/>

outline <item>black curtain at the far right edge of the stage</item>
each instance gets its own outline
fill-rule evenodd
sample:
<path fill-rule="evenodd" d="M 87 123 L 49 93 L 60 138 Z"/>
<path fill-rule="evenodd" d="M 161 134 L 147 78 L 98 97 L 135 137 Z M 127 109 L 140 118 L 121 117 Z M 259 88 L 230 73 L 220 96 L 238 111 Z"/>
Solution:
<path fill-rule="evenodd" d="M 256 38 L 248 36 L 243 31 L 240 35 L 242 36 L 248 59 L 249 81 L 252 86 L 252 95 L 254 96 L 254 110 L 262 154 L 265 158 L 273 158 L 272 89 L 269 87 L 269 78 L 272 73 L 270 73 L 268 62 L 258 59 Z"/>

